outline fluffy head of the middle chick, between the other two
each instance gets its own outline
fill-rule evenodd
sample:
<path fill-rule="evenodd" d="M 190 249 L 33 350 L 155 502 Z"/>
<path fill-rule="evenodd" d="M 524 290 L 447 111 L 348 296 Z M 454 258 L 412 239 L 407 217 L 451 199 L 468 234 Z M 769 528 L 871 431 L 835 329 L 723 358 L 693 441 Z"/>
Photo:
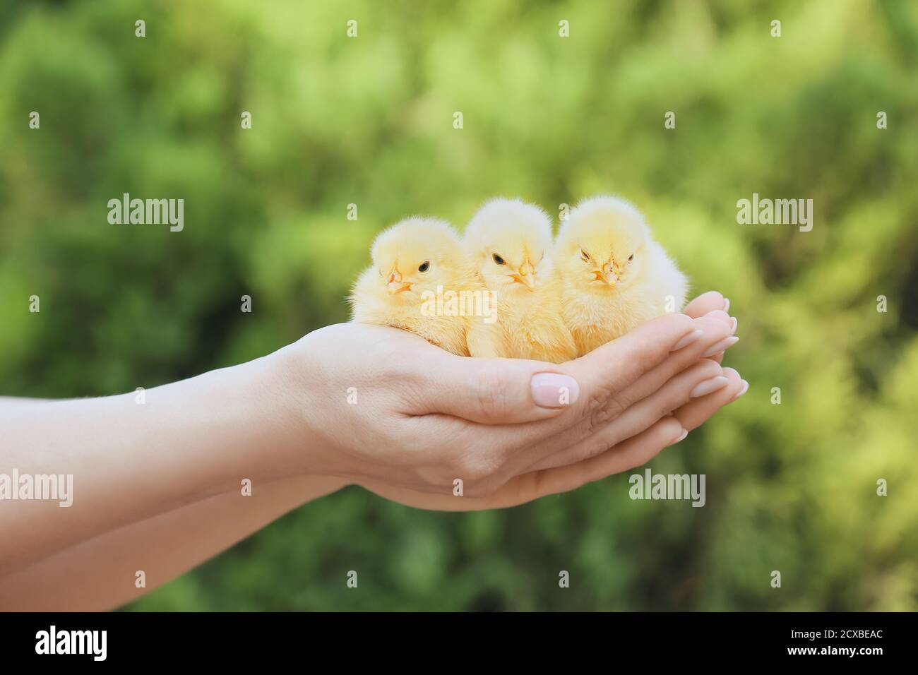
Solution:
<path fill-rule="evenodd" d="M 527 293 L 551 275 L 552 222 L 520 199 L 492 199 L 466 226 L 465 248 L 488 289 Z"/>

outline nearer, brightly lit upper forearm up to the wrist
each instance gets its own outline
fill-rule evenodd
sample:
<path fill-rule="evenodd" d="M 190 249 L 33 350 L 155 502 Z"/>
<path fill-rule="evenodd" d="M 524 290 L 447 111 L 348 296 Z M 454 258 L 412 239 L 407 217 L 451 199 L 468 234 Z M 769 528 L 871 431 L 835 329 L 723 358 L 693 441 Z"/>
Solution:
<path fill-rule="evenodd" d="M 66 500 L 0 500 L 0 539 L 14 543 L 0 548 L 0 574 L 123 525 L 238 494 L 244 478 L 291 476 L 275 448 L 289 449 L 303 429 L 275 393 L 284 376 L 273 357 L 152 388 L 142 403 L 130 393 L 0 407 L 8 488 L 22 496 L 10 485 L 14 471 L 62 476 L 61 486 L 73 477 Z"/>

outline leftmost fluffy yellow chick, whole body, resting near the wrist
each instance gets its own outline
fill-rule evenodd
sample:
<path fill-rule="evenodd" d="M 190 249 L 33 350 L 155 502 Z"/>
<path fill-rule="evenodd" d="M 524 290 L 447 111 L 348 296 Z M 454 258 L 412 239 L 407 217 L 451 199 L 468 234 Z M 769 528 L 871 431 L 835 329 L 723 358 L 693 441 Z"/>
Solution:
<path fill-rule="evenodd" d="M 496 303 L 446 222 L 409 218 L 380 232 L 358 277 L 352 319 L 414 332 L 461 356 L 501 356 Z"/>

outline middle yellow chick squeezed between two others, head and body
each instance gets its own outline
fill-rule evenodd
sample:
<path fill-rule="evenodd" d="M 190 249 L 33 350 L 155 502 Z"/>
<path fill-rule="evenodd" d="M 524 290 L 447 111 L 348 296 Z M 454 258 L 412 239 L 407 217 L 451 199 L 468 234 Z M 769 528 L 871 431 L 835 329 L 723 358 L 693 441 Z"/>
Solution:
<path fill-rule="evenodd" d="M 507 354 L 564 363 L 577 356 L 561 319 L 561 287 L 552 264 L 552 222 L 520 199 L 492 199 L 465 228 L 465 250 L 497 295 Z"/>

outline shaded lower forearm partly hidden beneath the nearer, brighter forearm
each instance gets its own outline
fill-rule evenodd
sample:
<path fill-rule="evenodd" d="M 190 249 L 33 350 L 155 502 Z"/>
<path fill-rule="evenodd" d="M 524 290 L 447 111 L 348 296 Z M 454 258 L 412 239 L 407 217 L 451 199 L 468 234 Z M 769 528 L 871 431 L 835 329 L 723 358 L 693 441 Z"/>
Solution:
<path fill-rule="evenodd" d="M 100 534 L 0 578 L 0 609 L 98 611 L 181 576 L 285 512 L 344 485 L 339 478 L 286 478 L 187 504 Z M 145 587 L 138 588 L 143 572 Z"/>

